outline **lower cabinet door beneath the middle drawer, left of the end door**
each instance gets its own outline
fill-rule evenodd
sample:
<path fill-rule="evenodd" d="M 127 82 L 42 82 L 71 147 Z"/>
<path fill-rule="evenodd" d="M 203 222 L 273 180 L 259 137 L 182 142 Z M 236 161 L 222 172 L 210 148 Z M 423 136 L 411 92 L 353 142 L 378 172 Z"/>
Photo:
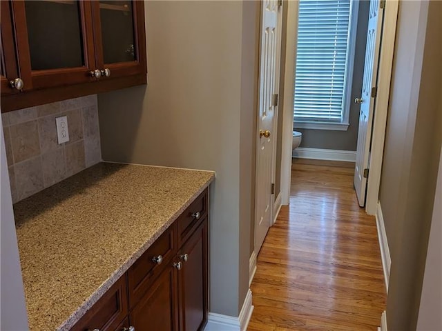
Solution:
<path fill-rule="evenodd" d="M 129 315 L 137 331 L 176 331 L 176 273 L 172 265 L 151 285 Z"/>

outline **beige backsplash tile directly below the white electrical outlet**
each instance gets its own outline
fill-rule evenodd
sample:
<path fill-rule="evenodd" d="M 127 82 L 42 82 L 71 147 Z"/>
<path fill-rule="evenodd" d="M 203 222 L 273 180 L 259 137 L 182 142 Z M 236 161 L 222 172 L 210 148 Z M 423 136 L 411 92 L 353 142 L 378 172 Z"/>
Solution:
<path fill-rule="evenodd" d="M 41 162 L 44 186 L 46 188 L 66 178 L 64 148 L 60 147 L 57 150 L 41 155 Z"/>

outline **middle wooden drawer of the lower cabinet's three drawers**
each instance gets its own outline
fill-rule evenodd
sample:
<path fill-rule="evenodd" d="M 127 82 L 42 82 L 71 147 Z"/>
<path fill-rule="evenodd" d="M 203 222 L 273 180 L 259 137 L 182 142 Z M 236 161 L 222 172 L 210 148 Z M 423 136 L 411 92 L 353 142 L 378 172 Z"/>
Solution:
<path fill-rule="evenodd" d="M 129 302 L 131 307 L 142 298 L 164 267 L 170 265 L 172 257 L 177 252 L 175 236 L 176 227 L 174 223 L 128 270 Z M 154 261 L 154 259 L 159 257 L 162 259 L 160 263 Z"/>

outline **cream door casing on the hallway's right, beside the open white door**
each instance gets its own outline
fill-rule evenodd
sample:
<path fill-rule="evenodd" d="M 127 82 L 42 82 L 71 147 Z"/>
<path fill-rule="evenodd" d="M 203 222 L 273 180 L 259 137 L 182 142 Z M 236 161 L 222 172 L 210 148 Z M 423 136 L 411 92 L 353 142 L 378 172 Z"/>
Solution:
<path fill-rule="evenodd" d="M 381 54 L 378 66 L 378 95 L 374 109 L 372 150 L 369 159 L 370 175 L 367 179 L 367 200 L 365 206 L 365 211 L 370 215 L 376 213 L 376 205 L 379 199 L 379 186 L 381 185 L 385 128 L 387 126 L 388 101 L 390 99 L 397 18 L 398 0 L 385 1 Z"/>

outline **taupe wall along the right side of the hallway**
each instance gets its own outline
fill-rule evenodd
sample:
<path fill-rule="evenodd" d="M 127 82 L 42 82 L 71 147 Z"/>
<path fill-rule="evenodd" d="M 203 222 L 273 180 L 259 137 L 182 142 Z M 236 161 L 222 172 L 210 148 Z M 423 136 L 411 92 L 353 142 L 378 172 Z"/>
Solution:
<path fill-rule="evenodd" d="M 401 1 L 380 203 L 392 269 L 389 330 L 414 330 L 442 143 L 442 3 Z"/>

